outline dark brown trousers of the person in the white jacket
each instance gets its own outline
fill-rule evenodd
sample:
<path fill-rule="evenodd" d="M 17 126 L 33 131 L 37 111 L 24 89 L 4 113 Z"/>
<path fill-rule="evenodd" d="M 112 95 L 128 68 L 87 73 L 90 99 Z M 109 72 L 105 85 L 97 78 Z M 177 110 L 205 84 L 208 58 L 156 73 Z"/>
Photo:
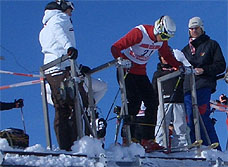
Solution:
<path fill-rule="evenodd" d="M 72 101 L 64 101 L 60 96 L 60 83 L 69 76 L 68 71 L 62 74 L 46 75 L 52 92 L 52 101 L 55 107 L 54 129 L 60 149 L 70 151 L 73 142 L 77 140 L 77 128 Z"/>

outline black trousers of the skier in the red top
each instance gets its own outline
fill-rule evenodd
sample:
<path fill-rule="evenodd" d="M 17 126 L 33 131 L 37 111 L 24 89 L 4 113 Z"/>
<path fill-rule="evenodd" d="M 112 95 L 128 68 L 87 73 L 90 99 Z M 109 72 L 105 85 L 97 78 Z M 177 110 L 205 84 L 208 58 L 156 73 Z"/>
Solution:
<path fill-rule="evenodd" d="M 157 105 L 154 103 L 155 97 L 149 78 L 146 75 L 135 75 L 129 73 L 125 78 L 125 84 L 129 115 L 135 117 L 138 114 L 143 101 L 146 110 L 145 117 L 140 122 L 153 125 L 130 125 L 132 138 L 136 138 L 138 140 L 154 139 L 155 125 L 157 121 Z M 137 119 L 138 118 L 136 118 L 135 121 L 137 121 Z"/>

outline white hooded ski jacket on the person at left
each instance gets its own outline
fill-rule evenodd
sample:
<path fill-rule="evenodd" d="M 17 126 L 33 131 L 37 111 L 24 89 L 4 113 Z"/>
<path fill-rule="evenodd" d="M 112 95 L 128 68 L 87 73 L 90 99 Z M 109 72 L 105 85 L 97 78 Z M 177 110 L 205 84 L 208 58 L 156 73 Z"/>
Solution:
<path fill-rule="evenodd" d="M 60 10 L 45 10 L 42 23 L 44 27 L 39 34 L 39 41 L 44 54 L 44 64 L 65 55 L 69 47 L 76 47 L 70 16 Z M 50 68 L 46 72 L 63 70 L 67 66 L 70 66 L 69 61 Z"/>

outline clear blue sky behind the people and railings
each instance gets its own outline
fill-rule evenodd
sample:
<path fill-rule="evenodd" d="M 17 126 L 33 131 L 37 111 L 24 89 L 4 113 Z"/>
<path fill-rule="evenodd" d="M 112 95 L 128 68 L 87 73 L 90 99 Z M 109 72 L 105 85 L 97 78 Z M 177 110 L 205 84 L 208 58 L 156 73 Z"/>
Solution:
<path fill-rule="evenodd" d="M 1 35 L 0 56 L 1 70 L 39 74 L 43 64 L 43 55 L 38 41 L 42 28 L 44 7 L 46 0 L 0 0 Z M 110 52 L 111 45 L 126 34 L 130 29 L 139 24 L 154 24 L 162 15 L 169 15 L 176 22 L 177 32 L 169 45 L 182 49 L 188 43 L 188 20 L 199 16 L 204 21 L 206 33 L 215 39 L 221 46 L 226 62 L 227 59 L 227 29 L 228 29 L 228 2 L 221 1 L 73 1 L 75 11 L 72 16 L 76 45 L 79 51 L 78 63 L 97 67 L 113 60 Z M 155 53 L 147 65 L 148 76 L 151 79 L 158 63 Z M 108 91 L 98 104 L 101 116 L 106 117 L 118 90 L 115 67 L 106 69 L 94 75 L 107 82 Z M 0 85 L 10 85 L 18 82 L 35 80 L 36 78 L 0 75 Z M 217 92 L 212 99 L 219 95 L 228 95 L 227 84 L 218 81 Z M 24 117 L 27 133 L 30 136 L 30 145 L 46 145 L 43 121 L 40 85 L 30 85 L 0 91 L 1 101 L 14 101 L 24 99 Z M 120 105 L 120 97 L 116 101 Z M 52 142 L 57 145 L 53 131 L 54 108 L 49 106 L 51 121 Z M 109 118 L 114 117 L 112 113 Z M 216 130 L 224 149 L 228 132 L 225 125 L 225 113 L 213 114 L 218 121 Z M 12 109 L 0 113 L 0 129 L 8 127 L 21 128 L 23 124 L 19 109 Z M 108 122 L 106 146 L 114 141 L 115 120 Z"/>

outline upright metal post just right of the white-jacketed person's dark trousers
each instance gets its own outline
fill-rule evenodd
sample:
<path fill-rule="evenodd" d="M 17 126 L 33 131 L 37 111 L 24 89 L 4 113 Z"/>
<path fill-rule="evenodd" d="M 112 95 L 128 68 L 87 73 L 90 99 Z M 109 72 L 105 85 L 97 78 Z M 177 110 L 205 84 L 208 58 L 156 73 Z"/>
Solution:
<path fill-rule="evenodd" d="M 71 76 L 72 78 L 77 78 L 76 67 L 75 67 L 75 60 L 70 59 L 70 66 L 71 66 Z M 80 100 L 79 100 L 79 90 L 78 90 L 78 83 L 75 82 L 75 98 L 74 98 L 74 112 L 76 118 L 76 126 L 78 132 L 78 138 L 81 139 L 83 137 L 82 131 L 82 111 L 80 107 Z"/>

